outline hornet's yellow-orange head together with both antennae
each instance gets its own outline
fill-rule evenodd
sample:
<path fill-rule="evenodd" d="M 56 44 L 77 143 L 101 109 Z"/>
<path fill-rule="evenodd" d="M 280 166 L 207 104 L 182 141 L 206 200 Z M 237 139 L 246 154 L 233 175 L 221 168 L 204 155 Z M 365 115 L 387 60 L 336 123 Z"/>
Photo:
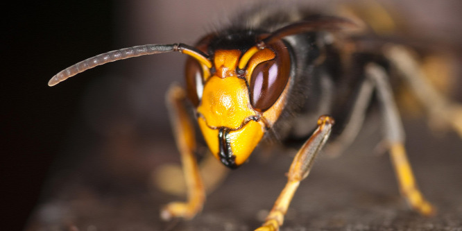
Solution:
<path fill-rule="evenodd" d="M 210 151 L 235 168 L 271 128 L 284 108 L 291 85 L 291 55 L 283 37 L 311 31 L 339 31 L 355 26 L 338 17 L 314 17 L 289 24 L 271 34 L 229 30 L 209 35 L 196 48 L 185 44 L 146 44 L 96 55 L 60 71 L 56 85 L 71 76 L 108 62 L 180 51 L 186 64 L 187 95 L 197 112 Z"/>

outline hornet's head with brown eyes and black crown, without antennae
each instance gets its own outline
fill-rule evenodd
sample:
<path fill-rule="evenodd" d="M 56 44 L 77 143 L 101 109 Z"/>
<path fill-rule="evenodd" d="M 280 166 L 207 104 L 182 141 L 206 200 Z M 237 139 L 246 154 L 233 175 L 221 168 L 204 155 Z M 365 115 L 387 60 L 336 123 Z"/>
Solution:
<path fill-rule="evenodd" d="M 211 44 L 200 42 L 199 49 L 212 51 L 212 68 L 187 60 L 187 94 L 197 108 L 200 130 L 215 157 L 232 168 L 248 159 L 275 123 L 290 88 L 286 44 L 277 40 L 249 50 L 259 37 L 243 31 L 214 37 Z"/>

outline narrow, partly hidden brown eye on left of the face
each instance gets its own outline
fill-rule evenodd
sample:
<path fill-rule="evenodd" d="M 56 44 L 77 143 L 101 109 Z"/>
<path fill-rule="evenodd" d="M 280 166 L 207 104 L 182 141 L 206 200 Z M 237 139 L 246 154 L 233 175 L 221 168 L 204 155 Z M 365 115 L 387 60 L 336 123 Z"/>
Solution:
<path fill-rule="evenodd" d="M 186 61 L 186 89 L 187 96 L 195 107 L 199 105 L 202 99 L 204 89 L 203 70 L 199 62 L 194 58 L 188 58 Z"/>

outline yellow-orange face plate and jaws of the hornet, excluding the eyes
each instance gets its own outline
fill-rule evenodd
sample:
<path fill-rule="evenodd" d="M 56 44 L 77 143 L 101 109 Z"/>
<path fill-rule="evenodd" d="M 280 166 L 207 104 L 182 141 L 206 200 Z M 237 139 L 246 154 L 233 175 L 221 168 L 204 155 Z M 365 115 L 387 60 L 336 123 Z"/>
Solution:
<path fill-rule="evenodd" d="M 259 69 L 259 65 L 275 60 L 275 51 L 263 49 L 255 53 L 246 65 L 246 74 L 241 75 L 236 71 L 239 58 L 239 50 L 215 51 L 212 60 L 214 73 L 209 74 L 209 69 L 200 65 L 203 85 L 196 86 L 197 119 L 205 142 L 213 155 L 231 168 L 246 162 L 266 130 L 273 126 L 282 112 L 288 89 L 288 84 L 283 83 L 280 93 L 273 96 L 275 102 L 271 107 L 259 110 L 255 107 L 258 96 L 252 100 L 255 93 L 250 92 L 255 88 L 252 86 L 258 83 L 255 84 L 251 78 L 256 76 L 253 71 Z M 194 74 L 192 76 L 198 78 Z"/>

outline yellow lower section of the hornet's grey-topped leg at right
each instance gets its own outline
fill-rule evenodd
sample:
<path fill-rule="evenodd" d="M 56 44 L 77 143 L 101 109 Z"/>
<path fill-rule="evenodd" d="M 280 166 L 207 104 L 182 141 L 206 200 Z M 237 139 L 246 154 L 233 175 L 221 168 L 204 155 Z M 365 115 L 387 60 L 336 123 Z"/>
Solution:
<path fill-rule="evenodd" d="M 411 164 L 407 160 L 406 150 L 400 143 L 392 144 L 390 149 L 391 161 L 395 168 L 398 184 L 402 196 L 407 199 L 414 210 L 425 216 L 431 216 L 435 209 L 425 200 L 417 187 L 416 180 L 412 173 Z"/>

